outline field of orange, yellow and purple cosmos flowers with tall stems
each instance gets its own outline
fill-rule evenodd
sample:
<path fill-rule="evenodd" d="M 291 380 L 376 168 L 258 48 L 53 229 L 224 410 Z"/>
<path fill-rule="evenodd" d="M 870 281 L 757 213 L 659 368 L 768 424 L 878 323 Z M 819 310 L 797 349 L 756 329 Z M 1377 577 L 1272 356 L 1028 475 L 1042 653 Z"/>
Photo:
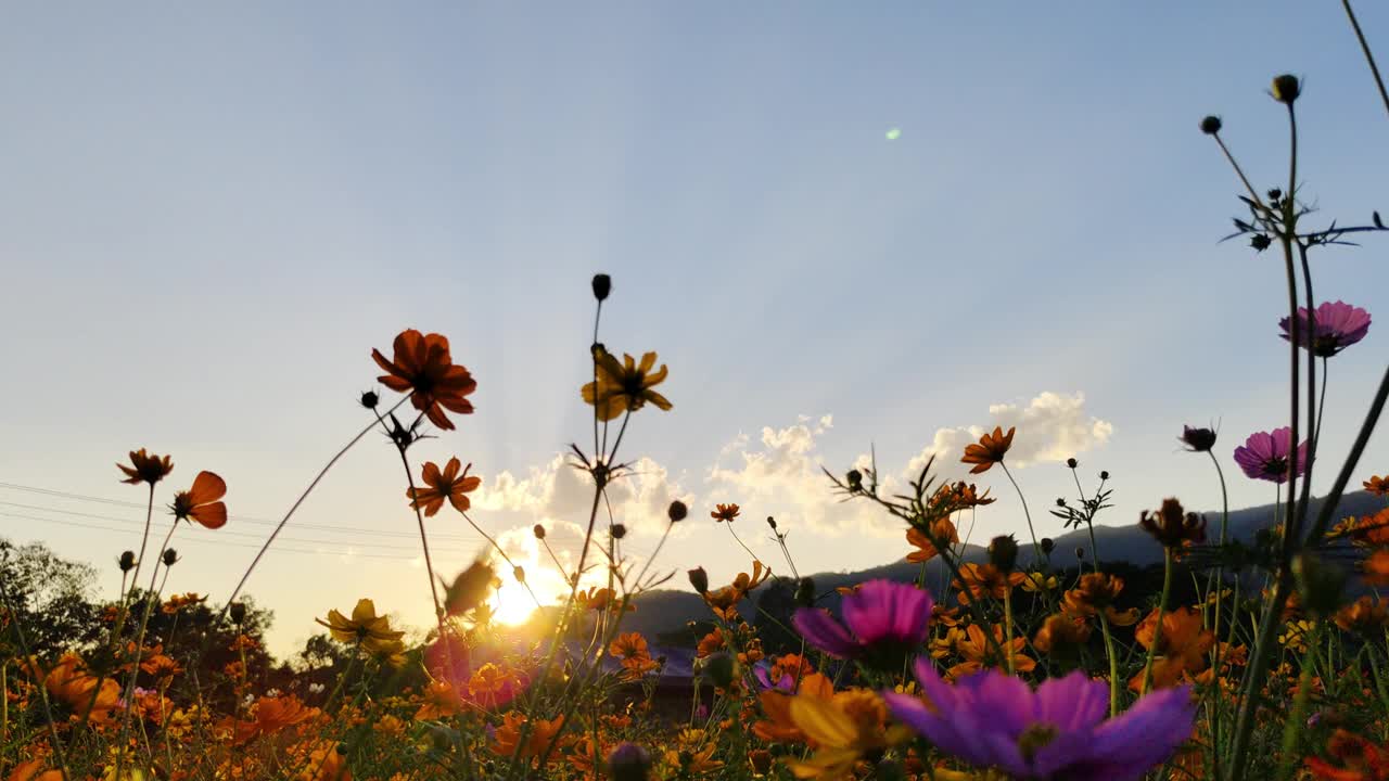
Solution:
<path fill-rule="evenodd" d="M 1375 474 L 1389 464 L 1361 463 L 1389 374 L 1367 410 L 1325 407 L 1328 368 L 1368 360 L 1357 345 L 1374 334 L 1364 309 L 1314 297 L 1308 260 L 1382 240 L 1386 228 L 1378 213 L 1340 222 L 1310 206 L 1297 168 L 1303 88 L 1279 75 L 1268 90 L 1289 136 L 1286 172 L 1246 171 L 1224 121 L 1199 122 L 1242 202 L 1226 238 L 1286 275 L 1286 315 L 1268 324 L 1270 343 L 1286 350 L 1286 378 L 1272 378 L 1286 388 L 1286 418 L 1235 434 L 1171 427 L 1222 492 L 1235 479 L 1276 491 L 1274 523 L 1251 538 L 1233 534 L 1228 506 L 1189 511 L 1179 485 L 1138 518 L 1111 517 L 1120 481 L 1082 472 L 1075 459 L 1065 466 L 1075 493 L 1038 503 L 1010 471 L 1025 431 L 999 427 L 951 454 L 975 482 L 942 481 L 933 461 L 906 486 L 889 486 L 872 463 L 825 471 L 825 503 L 872 507 L 896 524 L 899 543 L 882 559 L 913 564 L 910 579 L 817 584 L 797 567 L 792 524 L 750 518 L 743 496 L 669 503 L 654 550 L 628 556 L 607 492 L 633 477 L 643 422 L 679 414 L 679 367 L 644 350 L 640 334 L 603 331 L 622 296 L 597 274 L 592 360 L 572 378 L 585 424 L 571 432 L 568 466 L 590 489 L 572 518 L 585 532 L 576 560 L 565 566 L 550 529 L 533 529 L 567 593 L 533 589 L 476 517 L 474 495 L 489 478 L 481 464 L 419 454 L 425 439 L 447 450 L 485 414 L 469 396 L 488 378 L 457 342 L 407 328 L 389 349 L 363 347 L 378 384 L 360 396 L 350 439 L 315 467 L 232 592 L 165 591 L 179 539 L 236 523 L 238 486 L 215 463 L 176 453 L 140 447 L 111 472 L 146 511 L 143 535 L 101 563 L 103 577 L 121 579 L 117 599 L 44 602 L 46 581 L 81 570 L 33 546 L 0 546 L 0 778 L 1389 781 L 1389 603 L 1378 591 L 1389 586 L 1389 477 Z M 1381 96 L 1389 111 L 1382 83 Z M 588 324 L 575 327 L 588 340 Z M 622 352 L 626 343 L 642 349 Z M 1358 427 L 1349 452 L 1318 447 L 1324 416 Z M 399 456 L 399 502 L 414 514 L 428 575 L 417 598 L 436 621 L 407 634 L 389 617 L 396 606 L 363 582 L 356 603 L 322 606 L 308 628 L 321 636 L 290 668 L 265 650 L 253 575 L 357 447 Z M 1317 498 L 1314 474 L 1335 475 Z M 1360 488 L 1383 509 L 1338 511 Z M 971 548 L 975 511 L 995 503 L 1025 527 Z M 174 518 L 163 538 L 151 535 L 161 513 Z M 1086 535 L 1067 559 L 1075 564 L 1061 566 L 1056 541 L 1036 534 L 1040 513 Z M 436 516 L 475 532 L 486 552 L 443 571 L 425 523 Z M 1120 524 L 1142 529 L 1161 564 L 1111 557 L 1096 528 Z M 700 561 L 681 560 L 667 541 L 690 525 L 726 536 L 743 571 L 711 582 Z M 775 559 L 745 543 L 750 528 L 771 535 Z M 651 592 L 686 581 L 704 614 L 679 656 L 629 617 Z M 496 620 L 499 588 L 526 592 L 528 624 Z"/>

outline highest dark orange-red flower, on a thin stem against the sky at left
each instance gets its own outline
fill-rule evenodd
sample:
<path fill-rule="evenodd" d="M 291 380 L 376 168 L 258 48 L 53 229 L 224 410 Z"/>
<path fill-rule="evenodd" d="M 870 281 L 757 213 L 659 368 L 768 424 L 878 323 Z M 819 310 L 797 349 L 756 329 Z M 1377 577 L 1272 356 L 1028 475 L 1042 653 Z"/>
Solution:
<path fill-rule="evenodd" d="M 467 368 L 453 363 L 446 336 L 424 335 L 411 328 L 396 336 L 394 360 L 388 361 L 381 350 L 372 350 L 371 357 L 386 371 L 376 379 L 397 393 L 408 392 L 410 403 L 439 428 L 453 428 L 444 410 L 472 414 L 472 402 L 465 396 L 476 390 L 478 384 Z"/>

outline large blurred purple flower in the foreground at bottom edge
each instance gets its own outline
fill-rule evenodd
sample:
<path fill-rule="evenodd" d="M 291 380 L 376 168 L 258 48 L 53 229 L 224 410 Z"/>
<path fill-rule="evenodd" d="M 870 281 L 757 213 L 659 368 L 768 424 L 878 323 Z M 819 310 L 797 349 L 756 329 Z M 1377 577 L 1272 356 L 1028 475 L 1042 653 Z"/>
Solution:
<path fill-rule="evenodd" d="M 1081 670 L 1036 691 L 997 670 L 951 687 L 928 657 L 915 670 L 931 705 L 883 692 L 893 717 L 942 752 L 1010 778 L 1138 781 L 1186 742 L 1196 716 L 1188 687 L 1153 692 L 1106 718 L 1108 687 Z"/>

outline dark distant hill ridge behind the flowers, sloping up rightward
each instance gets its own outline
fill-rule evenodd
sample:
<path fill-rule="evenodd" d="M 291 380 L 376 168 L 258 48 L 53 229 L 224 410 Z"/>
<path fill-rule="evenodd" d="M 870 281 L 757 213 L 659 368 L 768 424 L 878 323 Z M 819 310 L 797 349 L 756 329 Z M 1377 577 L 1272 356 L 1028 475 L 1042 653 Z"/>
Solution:
<path fill-rule="evenodd" d="M 1322 502 L 1320 499 L 1311 500 L 1311 514 L 1315 517 L 1321 511 Z M 1354 493 L 1347 493 L 1340 498 L 1340 503 L 1336 507 L 1335 518 L 1340 520 L 1346 516 L 1372 516 L 1383 507 L 1383 500 L 1378 499 L 1364 491 L 1357 491 Z M 1207 521 L 1207 536 L 1214 541 L 1220 534 L 1221 511 L 1206 513 Z M 1231 510 L 1229 513 L 1229 536 L 1231 539 L 1239 539 L 1249 542 L 1253 539 L 1254 532 L 1261 528 L 1268 528 L 1274 523 L 1274 506 L 1264 504 L 1261 507 L 1247 507 L 1243 510 Z M 1086 529 L 1081 528 L 1078 531 L 1067 532 L 1061 536 L 1054 538 L 1056 550 L 1051 553 L 1051 567 L 1056 570 L 1074 568 L 1078 564 L 1075 556 L 1076 548 L 1085 549 L 1086 561 L 1090 559 L 1090 535 Z M 1020 541 L 1021 556 L 1024 561 L 1031 560 L 1032 545 L 1031 541 Z M 1135 567 L 1146 567 L 1151 564 L 1160 564 L 1163 561 L 1163 549 L 1138 525 L 1138 520 L 1132 524 L 1122 527 L 1100 525 L 1095 527 L 1095 542 L 1100 550 L 1100 563 L 1126 563 Z M 901 542 L 901 554 L 906 556 L 907 543 Z M 982 561 L 985 559 L 985 549 L 978 545 L 970 545 L 964 552 L 964 560 L 967 561 Z M 818 593 L 832 592 L 839 586 L 851 586 L 867 579 L 885 578 L 892 581 L 914 581 L 920 574 L 920 564 L 910 564 L 904 560 L 897 560 L 890 564 L 882 564 L 879 567 L 872 567 L 868 570 L 858 570 L 851 573 L 815 573 L 811 575 L 815 581 L 815 591 Z M 928 584 L 942 584 L 945 581 L 945 564 L 935 559 L 926 566 L 926 582 Z M 713 584 L 715 588 L 721 584 Z M 760 602 L 763 610 L 774 614 L 785 614 L 785 602 L 790 599 L 789 585 L 782 588 L 774 588 L 774 584 L 768 584 L 754 592 L 758 600 L 771 600 L 776 605 L 778 610 L 774 610 L 770 605 Z M 825 599 L 821 605 L 826 607 L 838 606 L 838 596 L 831 596 Z M 745 603 L 740 606 L 743 616 L 750 620 L 756 616 L 756 610 L 751 605 Z M 689 623 L 697 621 L 704 623 L 710 620 L 708 609 L 704 606 L 704 600 L 700 599 L 692 591 L 678 591 L 678 589 L 657 589 L 643 595 L 636 600 L 636 610 L 631 613 L 622 621 L 622 627 L 631 631 L 642 632 L 650 638 L 658 635 L 672 636 L 683 635 L 685 628 Z M 693 636 L 693 634 L 690 634 Z M 693 641 L 692 641 L 693 642 Z"/>

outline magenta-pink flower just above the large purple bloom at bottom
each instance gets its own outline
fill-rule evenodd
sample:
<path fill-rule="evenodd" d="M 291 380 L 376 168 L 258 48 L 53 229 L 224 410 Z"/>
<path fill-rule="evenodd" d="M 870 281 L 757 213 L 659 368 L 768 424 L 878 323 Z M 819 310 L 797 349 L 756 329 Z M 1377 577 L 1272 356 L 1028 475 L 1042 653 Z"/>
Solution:
<path fill-rule="evenodd" d="M 871 657 L 897 670 L 907 655 L 926 639 L 926 623 L 935 600 L 931 593 L 893 581 L 868 581 L 845 598 L 845 624 L 829 613 L 801 607 L 792 623 L 806 641 L 839 659 Z"/>

